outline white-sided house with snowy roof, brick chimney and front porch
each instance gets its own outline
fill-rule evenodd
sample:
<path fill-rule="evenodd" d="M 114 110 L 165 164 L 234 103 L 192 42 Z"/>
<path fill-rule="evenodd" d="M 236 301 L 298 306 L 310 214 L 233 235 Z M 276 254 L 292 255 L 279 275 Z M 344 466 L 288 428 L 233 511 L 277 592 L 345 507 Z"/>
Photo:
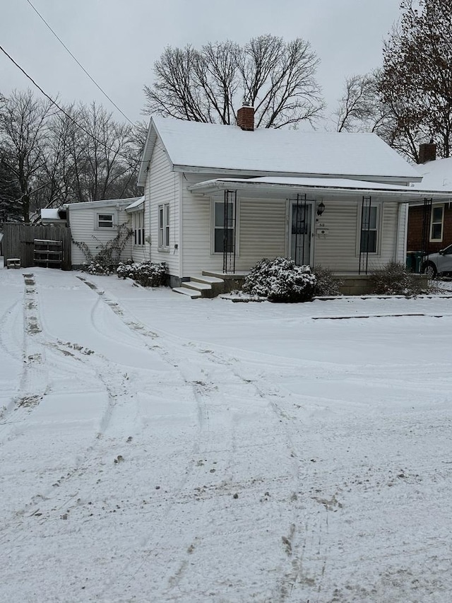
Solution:
<path fill-rule="evenodd" d="M 167 262 L 172 286 L 278 255 L 336 274 L 405 261 L 405 204 L 427 194 L 410 187 L 422 180 L 415 168 L 375 134 L 253 121 L 253 107 L 237 126 L 150 120 L 142 256 Z"/>

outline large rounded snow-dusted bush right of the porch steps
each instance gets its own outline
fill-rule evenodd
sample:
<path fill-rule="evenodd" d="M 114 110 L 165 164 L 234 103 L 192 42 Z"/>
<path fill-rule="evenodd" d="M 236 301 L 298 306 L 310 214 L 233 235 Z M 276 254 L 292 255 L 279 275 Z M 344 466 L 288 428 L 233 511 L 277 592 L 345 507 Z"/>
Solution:
<path fill-rule="evenodd" d="M 309 266 L 297 266 L 293 259 L 261 259 L 246 276 L 243 291 L 272 302 L 304 302 L 312 299 L 316 277 Z"/>

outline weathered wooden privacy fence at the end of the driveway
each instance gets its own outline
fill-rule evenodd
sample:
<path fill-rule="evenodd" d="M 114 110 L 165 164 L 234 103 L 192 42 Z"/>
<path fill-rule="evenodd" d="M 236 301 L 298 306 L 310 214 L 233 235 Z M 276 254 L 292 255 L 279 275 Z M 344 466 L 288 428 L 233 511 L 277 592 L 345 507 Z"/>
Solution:
<path fill-rule="evenodd" d="M 63 242 L 63 260 L 61 268 L 71 270 L 71 230 L 65 226 L 42 226 L 40 224 L 3 224 L 4 238 L 2 241 L 4 262 L 18 257 L 20 266 L 29 268 L 35 266 L 33 249 L 35 239 L 46 239 Z"/>

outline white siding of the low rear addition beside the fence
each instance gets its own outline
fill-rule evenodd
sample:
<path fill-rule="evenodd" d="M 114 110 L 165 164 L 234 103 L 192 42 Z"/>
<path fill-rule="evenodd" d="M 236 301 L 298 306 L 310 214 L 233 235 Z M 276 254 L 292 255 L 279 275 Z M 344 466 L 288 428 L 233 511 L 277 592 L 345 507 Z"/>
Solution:
<path fill-rule="evenodd" d="M 129 223 L 129 215 L 124 209 L 117 210 L 115 206 L 105 207 L 87 207 L 84 209 L 70 209 L 69 220 L 71 226 L 71 236 L 74 241 L 85 242 L 88 245 L 90 252 L 96 255 L 100 251 L 100 245 L 107 243 L 117 235 L 117 228 L 96 228 L 97 213 L 114 213 L 117 226 Z M 132 240 L 126 242 L 124 250 L 121 252 L 121 260 L 130 259 L 132 257 Z M 73 266 L 81 266 L 87 262 L 87 258 L 83 251 L 72 243 L 71 246 L 71 263 Z"/>

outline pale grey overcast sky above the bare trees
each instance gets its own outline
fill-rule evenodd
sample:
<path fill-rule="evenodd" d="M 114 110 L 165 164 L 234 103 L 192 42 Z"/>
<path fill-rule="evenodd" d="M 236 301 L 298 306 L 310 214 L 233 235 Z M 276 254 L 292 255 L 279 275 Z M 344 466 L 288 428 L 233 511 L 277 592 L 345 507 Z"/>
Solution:
<path fill-rule="evenodd" d="M 143 85 L 152 83 L 153 64 L 165 46 L 227 39 L 243 44 L 266 33 L 311 42 L 331 112 L 346 76 L 381 64 L 383 38 L 399 16 L 398 0 L 30 1 L 132 121 L 143 119 Z M 0 9 L 0 45 L 47 94 L 64 103 L 96 100 L 124 119 L 27 0 L 0 0 Z M 28 87 L 32 83 L 0 52 L 0 92 Z"/>

